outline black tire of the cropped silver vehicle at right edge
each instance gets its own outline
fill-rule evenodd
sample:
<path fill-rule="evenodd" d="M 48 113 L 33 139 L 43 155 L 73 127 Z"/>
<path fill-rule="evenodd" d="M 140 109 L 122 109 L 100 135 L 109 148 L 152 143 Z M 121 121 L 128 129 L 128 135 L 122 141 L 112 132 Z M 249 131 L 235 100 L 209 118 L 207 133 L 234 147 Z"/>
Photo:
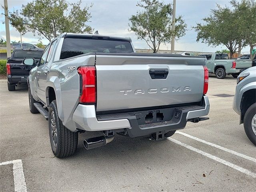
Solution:
<path fill-rule="evenodd" d="M 244 130 L 250 141 L 256 145 L 256 135 L 252 129 L 252 118 L 256 115 L 256 103 L 252 104 L 244 115 Z M 256 123 L 256 120 L 255 120 Z M 256 128 L 255 128 L 256 129 Z M 256 130 L 255 130 L 256 131 Z"/>

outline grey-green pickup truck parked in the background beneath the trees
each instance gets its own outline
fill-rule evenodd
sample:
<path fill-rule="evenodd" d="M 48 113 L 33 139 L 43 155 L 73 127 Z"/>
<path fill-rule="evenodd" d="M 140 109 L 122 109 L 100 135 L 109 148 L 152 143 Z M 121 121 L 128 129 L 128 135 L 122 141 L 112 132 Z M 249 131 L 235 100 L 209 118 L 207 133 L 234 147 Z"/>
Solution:
<path fill-rule="evenodd" d="M 226 75 L 237 78 L 242 71 L 252 66 L 251 60 L 229 59 L 228 54 L 225 53 L 201 54 L 199 56 L 206 57 L 209 73 L 214 73 L 218 79 L 224 79 Z"/>

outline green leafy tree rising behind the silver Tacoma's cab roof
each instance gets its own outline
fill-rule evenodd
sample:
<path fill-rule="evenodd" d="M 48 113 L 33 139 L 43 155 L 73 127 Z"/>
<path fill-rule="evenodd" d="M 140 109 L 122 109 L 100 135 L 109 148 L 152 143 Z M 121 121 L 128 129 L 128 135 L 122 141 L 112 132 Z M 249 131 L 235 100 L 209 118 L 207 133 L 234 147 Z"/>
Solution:
<path fill-rule="evenodd" d="M 20 13 L 28 31 L 38 34 L 49 41 L 63 32 L 92 33 L 92 28 L 86 25 L 91 18 L 86 6 L 80 8 L 81 0 L 68 3 L 66 0 L 33 0 L 22 5 Z"/>

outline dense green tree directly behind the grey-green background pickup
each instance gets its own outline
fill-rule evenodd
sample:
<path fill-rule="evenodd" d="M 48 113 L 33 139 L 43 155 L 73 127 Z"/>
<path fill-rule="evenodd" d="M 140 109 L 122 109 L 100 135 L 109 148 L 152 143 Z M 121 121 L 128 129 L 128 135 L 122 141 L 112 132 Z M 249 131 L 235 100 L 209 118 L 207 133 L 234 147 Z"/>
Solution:
<path fill-rule="evenodd" d="M 198 33 L 197 42 L 207 43 L 209 46 L 225 45 L 230 51 L 230 58 L 239 51 L 241 37 L 237 31 L 236 14 L 228 8 L 217 4 L 217 9 L 210 12 L 210 16 L 202 19 L 205 24 L 197 23 L 193 28 Z"/>

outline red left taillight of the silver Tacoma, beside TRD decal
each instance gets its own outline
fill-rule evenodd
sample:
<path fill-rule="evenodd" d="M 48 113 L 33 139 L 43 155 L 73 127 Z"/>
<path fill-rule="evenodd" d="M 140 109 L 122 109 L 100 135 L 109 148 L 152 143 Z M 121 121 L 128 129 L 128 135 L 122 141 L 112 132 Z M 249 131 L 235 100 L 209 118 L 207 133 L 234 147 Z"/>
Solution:
<path fill-rule="evenodd" d="M 83 104 L 96 103 L 96 69 L 95 66 L 78 67 L 80 76 L 79 102 Z"/>

